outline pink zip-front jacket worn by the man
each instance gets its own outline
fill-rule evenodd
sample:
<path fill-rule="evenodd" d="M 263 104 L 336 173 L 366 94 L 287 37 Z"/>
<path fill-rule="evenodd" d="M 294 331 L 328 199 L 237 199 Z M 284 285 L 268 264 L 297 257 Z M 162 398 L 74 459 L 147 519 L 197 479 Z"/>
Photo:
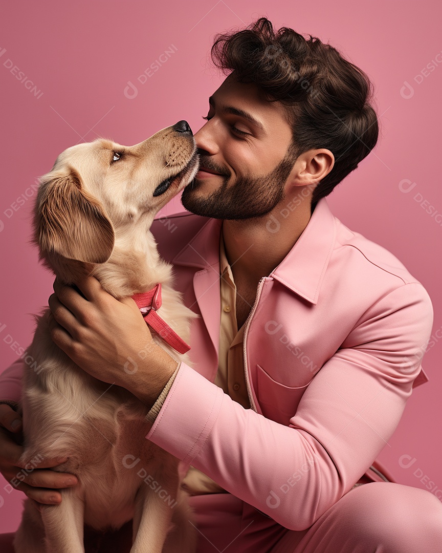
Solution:
<path fill-rule="evenodd" d="M 244 332 L 246 410 L 213 384 L 220 226 L 186 213 L 152 227 L 175 265 L 176 288 L 201 317 L 192 327 L 193 369 L 181 365 L 146 438 L 303 530 L 369 469 L 412 387 L 427 381 L 420 361 L 432 304 L 396 257 L 320 200 L 287 257 L 259 283 Z M 21 370 L 15 364 L 2 375 L 2 399 L 18 400 Z"/>

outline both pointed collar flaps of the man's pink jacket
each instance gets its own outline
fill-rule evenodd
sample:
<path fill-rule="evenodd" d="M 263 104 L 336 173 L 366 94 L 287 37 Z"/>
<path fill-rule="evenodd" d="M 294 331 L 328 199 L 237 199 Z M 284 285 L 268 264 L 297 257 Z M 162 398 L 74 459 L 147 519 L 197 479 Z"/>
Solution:
<path fill-rule="evenodd" d="M 219 272 L 219 234 L 222 221 L 209 219 L 191 241 L 173 258 L 172 263 L 212 269 Z M 275 234 L 277 239 L 277 234 Z M 336 239 L 333 213 L 322 198 L 293 248 L 269 275 L 281 284 L 317 304 Z"/>

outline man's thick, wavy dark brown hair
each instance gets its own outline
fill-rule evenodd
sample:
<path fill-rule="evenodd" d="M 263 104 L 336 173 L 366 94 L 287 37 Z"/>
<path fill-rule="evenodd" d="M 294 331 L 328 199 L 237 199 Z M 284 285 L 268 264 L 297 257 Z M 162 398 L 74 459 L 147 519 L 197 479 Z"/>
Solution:
<path fill-rule="evenodd" d="M 215 36 L 211 54 L 225 75 L 254 83 L 269 101 L 287 106 L 296 155 L 327 148 L 335 164 L 315 188 L 312 205 L 375 147 L 378 122 L 370 105 L 369 77 L 318 38 L 293 29 L 273 30 L 260 18 L 239 32 Z"/>

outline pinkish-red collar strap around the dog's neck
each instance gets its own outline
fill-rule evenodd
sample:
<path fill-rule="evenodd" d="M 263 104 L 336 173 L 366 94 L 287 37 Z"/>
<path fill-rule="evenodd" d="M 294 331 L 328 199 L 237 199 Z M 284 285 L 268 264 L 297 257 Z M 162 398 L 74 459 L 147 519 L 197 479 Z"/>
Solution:
<path fill-rule="evenodd" d="M 190 346 L 156 312 L 162 304 L 161 284 L 157 284 L 155 288 L 142 294 L 134 294 L 132 299 L 141 311 L 146 324 L 159 334 L 165 342 L 172 346 L 173 349 L 176 349 L 178 353 L 189 351 Z"/>

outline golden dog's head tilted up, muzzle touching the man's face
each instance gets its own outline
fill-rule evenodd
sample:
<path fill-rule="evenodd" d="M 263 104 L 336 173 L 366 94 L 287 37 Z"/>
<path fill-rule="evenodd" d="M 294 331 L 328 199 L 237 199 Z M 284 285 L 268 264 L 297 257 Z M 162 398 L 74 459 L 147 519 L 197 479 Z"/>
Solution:
<path fill-rule="evenodd" d="M 34 240 L 40 257 L 104 263 L 115 232 L 143 224 L 194 177 L 198 156 L 186 121 L 134 146 L 111 140 L 77 144 L 62 152 L 40 179 Z"/>

